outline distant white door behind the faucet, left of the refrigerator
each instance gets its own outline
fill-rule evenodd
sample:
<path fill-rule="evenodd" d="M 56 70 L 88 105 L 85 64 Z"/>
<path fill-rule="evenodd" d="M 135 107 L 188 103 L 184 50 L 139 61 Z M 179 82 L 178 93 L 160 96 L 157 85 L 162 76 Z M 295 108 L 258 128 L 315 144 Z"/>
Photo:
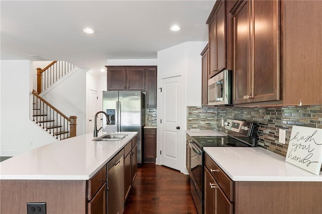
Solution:
<path fill-rule="evenodd" d="M 88 102 L 88 130 L 87 133 L 94 133 L 94 117 L 95 114 L 99 111 L 99 100 L 98 92 L 96 90 L 89 89 L 88 91 L 89 102 Z M 98 128 L 100 128 L 101 120 L 97 120 Z"/>

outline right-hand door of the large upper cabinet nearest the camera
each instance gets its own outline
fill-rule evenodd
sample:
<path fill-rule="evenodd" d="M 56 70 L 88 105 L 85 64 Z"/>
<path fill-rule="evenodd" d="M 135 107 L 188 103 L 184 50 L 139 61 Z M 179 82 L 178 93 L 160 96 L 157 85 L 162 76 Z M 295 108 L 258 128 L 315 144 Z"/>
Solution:
<path fill-rule="evenodd" d="M 253 1 L 252 102 L 279 99 L 279 1 Z"/>

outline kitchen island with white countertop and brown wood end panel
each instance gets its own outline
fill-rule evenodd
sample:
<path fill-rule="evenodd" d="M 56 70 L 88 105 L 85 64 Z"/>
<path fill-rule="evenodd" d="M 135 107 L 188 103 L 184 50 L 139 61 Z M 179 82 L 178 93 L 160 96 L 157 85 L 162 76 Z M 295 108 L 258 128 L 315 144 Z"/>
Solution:
<path fill-rule="evenodd" d="M 91 213 L 88 209 L 96 204 L 89 201 L 106 189 L 107 163 L 136 140 L 137 132 L 117 134 L 127 136 L 117 141 L 93 141 L 91 133 L 1 162 L 0 213 L 27 213 L 27 202 L 46 202 L 47 213 Z M 104 200 L 104 195 L 100 199 Z"/>

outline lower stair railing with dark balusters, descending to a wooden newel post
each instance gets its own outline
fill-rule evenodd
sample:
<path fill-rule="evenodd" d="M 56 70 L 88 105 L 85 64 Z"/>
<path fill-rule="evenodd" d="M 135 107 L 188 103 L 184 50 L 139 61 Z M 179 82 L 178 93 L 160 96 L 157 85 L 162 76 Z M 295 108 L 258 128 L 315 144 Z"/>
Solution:
<path fill-rule="evenodd" d="M 39 96 L 35 90 L 33 94 L 33 121 L 44 130 L 63 140 L 76 136 L 76 116 L 67 117 L 44 98 Z M 60 136 L 60 137 L 58 137 Z"/>

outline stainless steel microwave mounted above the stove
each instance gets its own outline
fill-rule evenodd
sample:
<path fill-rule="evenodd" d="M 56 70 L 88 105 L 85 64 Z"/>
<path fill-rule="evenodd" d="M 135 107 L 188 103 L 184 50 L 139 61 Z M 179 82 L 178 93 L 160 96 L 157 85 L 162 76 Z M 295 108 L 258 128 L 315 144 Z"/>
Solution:
<path fill-rule="evenodd" d="M 208 105 L 232 104 L 232 71 L 223 70 L 208 79 Z"/>

